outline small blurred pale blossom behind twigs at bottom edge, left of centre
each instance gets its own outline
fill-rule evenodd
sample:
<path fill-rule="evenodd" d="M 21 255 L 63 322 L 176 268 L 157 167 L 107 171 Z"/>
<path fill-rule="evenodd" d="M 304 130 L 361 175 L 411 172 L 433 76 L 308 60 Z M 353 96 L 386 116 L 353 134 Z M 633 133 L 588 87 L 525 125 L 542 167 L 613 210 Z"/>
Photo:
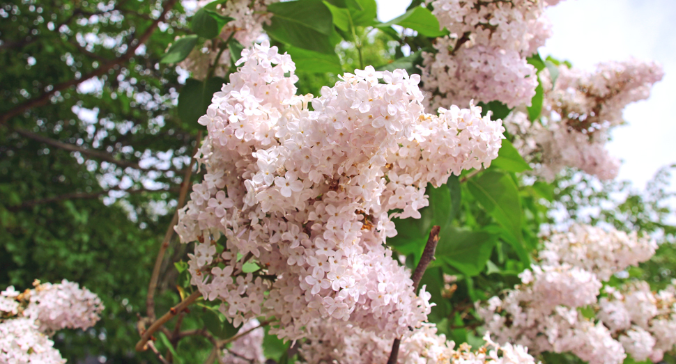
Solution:
<path fill-rule="evenodd" d="M 244 324 L 238 333 L 245 333 L 237 340 L 231 342 L 228 349 L 224 349 L 220 357 L 221 364 L 263 364 L 266 356 L 263 354 L 263 338 L 266 335 L 261 323 L 257 319 L 251 319 Z M 257 328 L 257 329 L 254 329 Z"/>

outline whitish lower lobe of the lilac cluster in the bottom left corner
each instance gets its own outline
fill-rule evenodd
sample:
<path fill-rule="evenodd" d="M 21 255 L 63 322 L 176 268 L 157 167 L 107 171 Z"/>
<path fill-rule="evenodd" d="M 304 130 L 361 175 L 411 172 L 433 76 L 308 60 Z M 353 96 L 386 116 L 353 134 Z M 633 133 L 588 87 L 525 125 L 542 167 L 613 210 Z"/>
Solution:
<path fill-rule="evenodd" d="M 20 317 L 0 322 L 0 363 L 64 364 L 66 359 L 32 319 Z"/>

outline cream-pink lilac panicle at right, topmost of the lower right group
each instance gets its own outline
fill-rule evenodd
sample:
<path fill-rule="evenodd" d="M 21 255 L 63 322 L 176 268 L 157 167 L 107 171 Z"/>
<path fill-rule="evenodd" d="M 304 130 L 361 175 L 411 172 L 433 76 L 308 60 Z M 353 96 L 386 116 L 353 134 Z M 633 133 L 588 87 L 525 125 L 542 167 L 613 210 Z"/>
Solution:
<path fill-rule="evenodd" d="M 656 248 L 654 239 L 640 238 L 636 232 L 575 224 L 567 232 L 546 237 L 539 258 L 542 264 L 571 264 L 605 281 L 618 271 L 649 260 Z"/>

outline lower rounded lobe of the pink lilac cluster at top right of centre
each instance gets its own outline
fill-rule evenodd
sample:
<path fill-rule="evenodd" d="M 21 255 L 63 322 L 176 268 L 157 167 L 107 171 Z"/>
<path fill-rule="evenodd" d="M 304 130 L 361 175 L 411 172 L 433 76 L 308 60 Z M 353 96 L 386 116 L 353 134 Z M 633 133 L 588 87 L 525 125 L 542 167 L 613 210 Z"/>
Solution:
<path fill-rule="evenodd" d="M 514 107 L 535 96 L 535 68 L 512 49 L 485 45 L 461 47 L 454 52 L 455 38 L 438 38 L 436 54 L 425 53 L 422 68 L 424 89 L 432 93 L 429 109 L 470 100 L 499 100 Z"/>

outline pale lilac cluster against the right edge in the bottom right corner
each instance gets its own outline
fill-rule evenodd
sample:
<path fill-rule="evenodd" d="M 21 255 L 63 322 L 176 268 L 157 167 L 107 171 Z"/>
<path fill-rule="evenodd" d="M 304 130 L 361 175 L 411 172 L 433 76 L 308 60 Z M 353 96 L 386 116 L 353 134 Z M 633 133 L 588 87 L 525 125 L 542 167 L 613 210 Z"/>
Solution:
<path fill-rule="evenodd" d="M 676 287 L 652 292 L 645 281 L 606 287 L 597 317 L 636 361 L 661 361 L 676 347 Z"/>

